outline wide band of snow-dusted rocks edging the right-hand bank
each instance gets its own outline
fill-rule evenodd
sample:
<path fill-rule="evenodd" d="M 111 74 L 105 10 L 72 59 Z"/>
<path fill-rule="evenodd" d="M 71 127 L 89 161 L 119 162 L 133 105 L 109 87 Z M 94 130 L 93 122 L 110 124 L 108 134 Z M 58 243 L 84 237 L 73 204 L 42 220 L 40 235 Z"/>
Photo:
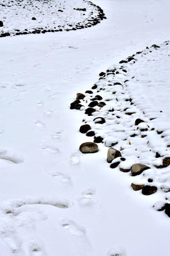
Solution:
<path fill-rule="evenodd" d="M 164 42 L 163 45 L 168 46 L 169 41 Z M 94 142 L 81 144 L 79 150 L 82 153 L 95 153 L 98 151 L 98 144 L 104 143 L 109 147 L 106 159 L 108 163 L 111 163 L 111 168 L 119 167 L 120 171 L 129 173 L 130 176 L 142 178 L 141 181 L 132 182 L 131 186 L 134 191 L 141 190 L 145 196 L 152 195 L 158 190 L 166 193 L 165 195 L 170 192 L 170 186 L 166 187 L 164 183 L 159 184 L 152 178 L 152 173 L 160 169 L 164 169 L 164 174 L 169 175 L 169 170 L 166 169 L 170 165 L 169 144 L 164 142 L 162 131 L 155 129 L 152 124 L 152 119 L 157 117 L 148 118 L 130 97 L 127 90 L 128 79 L 133 80 L 135 77 L 128 76 L 128 71 L 140 55 L 147 55 L 159 48 L 160 46 L 157 45 L 147 47 L 145 50 L 121 60 L 114 68 L 101 72 L 98 82 L 91 87 L 91 90 L 86 90 L 85 94 L 78 92 L 77 99 L 70 105 L 70 109 L 81 110 L 87 115 L 83 119 L 84 124 L 81 125 L 79 132 L 94 138 Z M 103 131 L 108 126 L 111 126 L 111 132 L 105 134 Z M 154 134 L 155 138 L 164 142 L 164 155 L 159 154 L 152 143 L 150 144 L 149 133 Z M 115 134 L 120 136 L 121 143 L 118 142 L 119 139 Z M 139 139 L 140 143 L 145 146 L 145 154 L 149 155 L 149 165 L 147 165 L 148 163 L 142 164 L 141 152 L 137 153 L 137 140 Z M 135 144 L 136 148 L 132 148 L 131 144 Z M 129 146 L 132 149 L 131 154 L 136 154 L 136 159 L 139 158 L 139 160 L 130 162 L 131 164 L 127 168 L 124 167 L 127 159 L 123 157 L 123 152 L 127 152 Z M 157 164 L 157 159 L 162 164 Z M 164 201 L 155 203 L 153 207 L 159 211 L 164 210 L 166 215 L 170 217 L 169 196 L 165 196 Z"/>

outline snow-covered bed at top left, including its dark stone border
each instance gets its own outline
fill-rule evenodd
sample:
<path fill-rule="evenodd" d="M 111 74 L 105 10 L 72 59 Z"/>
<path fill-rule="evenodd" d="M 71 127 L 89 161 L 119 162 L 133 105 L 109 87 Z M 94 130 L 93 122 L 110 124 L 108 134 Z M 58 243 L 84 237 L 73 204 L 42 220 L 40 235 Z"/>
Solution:
<path fill-rule="evenodd" d="M 27 34 L 76 31 L 106 18 L 91 1 L 8 1 L 0 3 L 0 38 Z M 22 21 L 22 22 L 21 22 Z"/>

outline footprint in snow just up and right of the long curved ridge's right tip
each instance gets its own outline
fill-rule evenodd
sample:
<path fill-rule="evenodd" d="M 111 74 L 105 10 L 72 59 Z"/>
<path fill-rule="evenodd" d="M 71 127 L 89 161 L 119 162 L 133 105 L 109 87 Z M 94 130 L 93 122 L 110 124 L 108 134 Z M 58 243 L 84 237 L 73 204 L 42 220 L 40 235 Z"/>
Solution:
<path fill-rule="evenodd" d="M 94 205 L 95 203 L 95 189 L 88 188 L 81 193 L 81 197 L 79 198 L 79 205 L 84 207 L 89 207 Z"/>

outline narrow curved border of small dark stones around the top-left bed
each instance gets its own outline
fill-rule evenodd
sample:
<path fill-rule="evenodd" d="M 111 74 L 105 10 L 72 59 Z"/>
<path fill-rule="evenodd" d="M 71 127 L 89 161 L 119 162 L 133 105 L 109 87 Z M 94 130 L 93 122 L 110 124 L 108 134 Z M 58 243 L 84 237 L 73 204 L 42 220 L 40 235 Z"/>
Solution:
<path fill-rule="evenodd" d="M 45 1 L 45 0 L 44 0 Z M 0 38 L 2 37 L 6 37 L 6 36 L 20 36 L 20 35 L 27 35 L 27 34 L 39 34 L 39 33 L 47 33 L 47 32 L 61 32 L 61 31 L 76 31 L 78 29 L 83 29 L 83 28 L 89 28 L 91 26 L 96 26 L 98 23 L 100 23 L 103 19 L 106 19 L 106 15 L 103 12 L 103 9 L 101 9 L 100 6 L 96 6 L 96 4 L 93 4 L 91 1 L 87 1 L 87 0 L 83 0 L 84 2 L 86 2 L 86 4 L 89 4 L 89 6 L 92 6 L 92 8 L 96 9 L 96 11 L 98 12 L 98 15 L 96 17 L 93 16 L 89 16 L 88 18 L 86 18 L 84 21 L 81 21 L 79 23 L 77 23 L 76 25 L 73 25 L 72 23 L 67 24 L 69 26 L 69 28 L 64 28 L 64 26 L 60 26 L 58 25 L 57 27 L 54 28 L 49 28 L 49 29 L 45 29 L 42 27 L 38 27 L 38 28 L 34 28 L 32 31 L 28 31 L 27 28 L 25 28 L 23 31 L 19 31 L 18 29 L 15 30 L 15 32 L 13 31 L 12 33 L 10 31 L 1 31 L 0 33 Z M 3 4 L 0 4 L 0 6 L 3 6 Z M 10 7 L 10 6 L 8 6 Z M 26 8 L 26 6 L 24 6 L 24 9 Z M 74 8 L 74 10 L 76 11 L 86 11 L 85 8 Z M 62 10 L 58 10 L 61 11 Z M 32 19 L 35 19 L 35 17 L 33 17 Z M 3 28 L 4 27 L 4 22 L 0 21 L 0 27 Z"/>

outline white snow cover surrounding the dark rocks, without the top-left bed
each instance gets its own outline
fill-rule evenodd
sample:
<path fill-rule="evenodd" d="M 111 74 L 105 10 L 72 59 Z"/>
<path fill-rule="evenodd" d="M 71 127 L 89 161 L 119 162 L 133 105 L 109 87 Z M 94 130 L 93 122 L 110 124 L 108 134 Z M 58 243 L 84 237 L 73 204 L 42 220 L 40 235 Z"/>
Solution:
<path fill-rule="evenodd" d="M 155 167 L 170 156 L 170 2 L 93 3 L 107 17 L 97 26 L 0 38 L 0 256 L 170 255 L 170 219 L 157 210 L 170 201 L 170 168 Z M 134 61 L 119 63 L 137 51 Z M 106 106 L 92 116 L 84 107 L 70 110 L 77 92 L 95 83 L 106 89 L 93 90 Z M 94 124 L 102 111 L 106 123 Z M 137 118 L 145 122 L 135 126 Z M 111 169 L 110 144 L 82 154 L 80 144 L 94 139 L 79 132 L 83 119 L 106 144 L 123 148 L 122 168 L 138 162 L 151 169 L 135 177 L 120 171 L 123 161 Z M 149 178 L 156 193 L 133 191 L 132 182 L 148 185 Z"/>

